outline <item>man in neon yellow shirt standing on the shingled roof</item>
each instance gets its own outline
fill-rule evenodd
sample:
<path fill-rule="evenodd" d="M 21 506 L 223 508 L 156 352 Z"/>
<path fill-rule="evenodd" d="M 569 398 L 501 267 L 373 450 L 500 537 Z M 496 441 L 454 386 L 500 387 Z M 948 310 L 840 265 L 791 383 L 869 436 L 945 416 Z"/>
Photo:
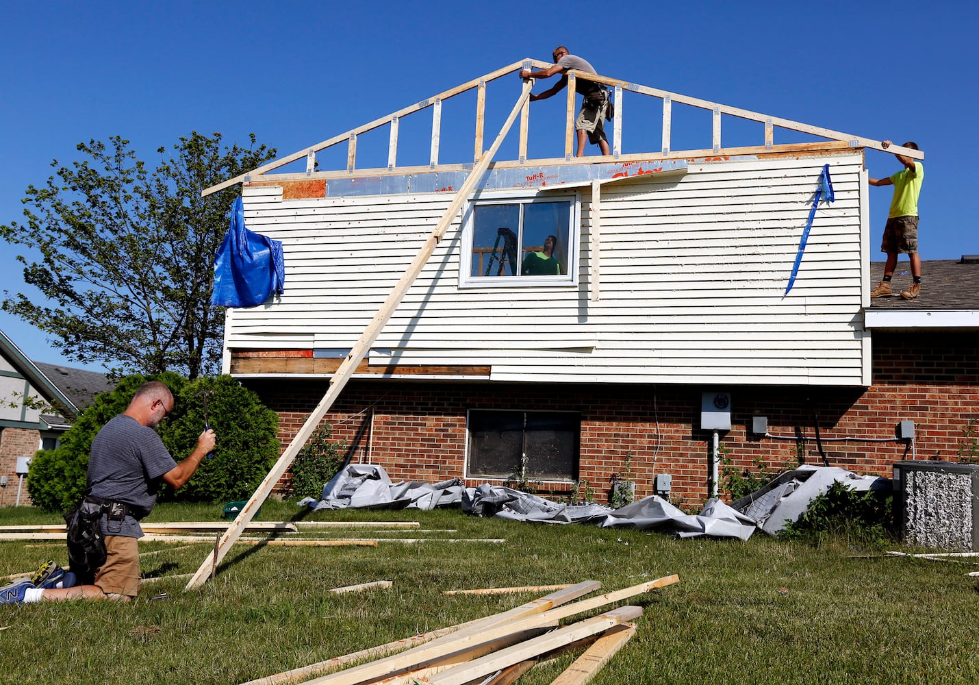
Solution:
<path fill-rule="evenodd" d="M 891 141 L 885 140 L 881 146 L 890 147 Z M 912 142 L 903 147 L 917 150 Z M 891 276 L 898 266 L 898 255 L 906 253 L 911 262 L 911 284 L 908 290 L 901 292 L 901 297 L 913 300 L 921 292 L 921 258 L 917 252 L 917 199 L 921 193 L 921 181 L 924 180 L 924 165 L 915 162 L 904 155 L 894 154 L 898 161 L 905 166 L 889 178 L 868 178 L 870 185 L 893 185 L 894 198 L 891 200 L 891 211 L 887 214 L 887 225 L 884 226 L 884 239 L 880 251 L 887 253 L 887 264 L 884 265 L 884 279 L 870 291 L 870 297 L 886 297 L 892 295 Z"/>

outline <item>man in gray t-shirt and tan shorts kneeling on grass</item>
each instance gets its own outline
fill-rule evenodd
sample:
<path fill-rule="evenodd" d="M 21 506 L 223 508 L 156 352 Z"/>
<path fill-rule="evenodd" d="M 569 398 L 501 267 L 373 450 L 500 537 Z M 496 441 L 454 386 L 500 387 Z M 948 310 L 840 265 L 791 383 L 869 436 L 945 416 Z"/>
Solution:
<path fill-rule="evenodd" d="M 153 511 L 161 480 L 173 489 L 183 486 L 214 448 L 214 431 L 209 428 L 198 436 L 190 457 L 180 464 L 174 462 L 154 430 L 172 411 L 169 388 L 159 381 L 144 383 L 125 412 L 106 423 L 92 441 L 88 494 L 79 510 L 102 513 L 99 525 L 105 536 L 105 563 L 92 577 L 78 578 L 80 585 L 74 585 L 72 574 L 61 571 L 56 564 L 51 564 L 53 569 L 45 569 L 48 564 L 43 564 L 31 578 L 0 588 L 0 604 L 74 599 L 129 601 L 139 593 L 136 541 L 143 536 L 139 519 Z"/>

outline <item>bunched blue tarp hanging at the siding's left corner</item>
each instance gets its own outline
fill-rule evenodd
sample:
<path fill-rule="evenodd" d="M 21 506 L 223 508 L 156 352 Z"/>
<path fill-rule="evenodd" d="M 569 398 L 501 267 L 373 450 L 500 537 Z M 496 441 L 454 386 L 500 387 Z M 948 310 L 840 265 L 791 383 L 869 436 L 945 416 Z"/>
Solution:
<path fill-rule="evenodd" d="M 273 293 L 281 295 L 285 282 L 282 242 L 246 228 L 245 208 L 237 198 L 231 206 L 231 225 L 214 256 L 210 304 L 257 307 Z"/>

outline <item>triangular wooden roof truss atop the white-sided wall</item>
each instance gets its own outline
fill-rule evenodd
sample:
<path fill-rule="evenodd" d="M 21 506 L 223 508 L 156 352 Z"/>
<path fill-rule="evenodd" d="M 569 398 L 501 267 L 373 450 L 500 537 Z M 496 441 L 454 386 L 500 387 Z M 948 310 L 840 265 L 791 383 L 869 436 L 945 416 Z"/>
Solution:
<path fill-rule="evenodd" d="M 482 156 L 483 149 L 483 124 L 484 115 L 486 112 L 486 84 L 496 78 L 506 76 L 511 73 L 519 72 L 522 69 L 546 69 L 550 67 L 546 62 L 540 62 L 538 60 L 526 59 L 521 62 L 515 62 L 511 65 L 498 69 L 495 72 L 487 73 L 479 78 L 474 78 L 471 81 L 457 85 L 454 88 L 445 90 L 437 95 L 433 95 L 427 100 L 422 100 L 414 105 L 405 107 L 403 109 L 394 112 L 387 117 L 382 117 L 380 119 L 374 120 L 373 122 L 364 123 L 356 128 L 351 128 L 349 131 L 335 135 L 332 138 L 327 138 L 315 145 L 311 145 L 308 148 L 295 152 L 286 157 L 269 162 L 266 165 L 262 165 L 253 171 L 248 171 L 242 173 L 234 178 L 229 178 L 217 185 L 211 186 L 210 188 L 204 190 L 202 195 L 210 195 L 211 193 L 223 190 L 229 186 L 235 185 L 241 182 L 248 182 L 251 180 L 257 180 L 258 176 L 263 176 L 267 180 L 273 180 L 274 175 L 269 174 L 270 171 L 276 171 L 285 167 L 286 165 L 298 162 L 305 158 L 306 160 L 306 171 L 305 175 L 310 178 L 328 178 L 328 177 L 349 177 L 356 175 L 376 175 L 378 173 L 384 172 L 397 172 L 397 173 L 413 173 L 413 172 L 424 172 L 424 171 L 461 171 L 468 170 L 472 167 L 471 164 L 453 164 L 453 165 L 441 165 L 439 163 L 439 142 L 442 130 L 442 104 L 443 101 L 459 95 L 461 93 L 468 92 L 470 90 L 477 90 L 477 104 L 476 104 L 476 130 L 474 135 L 474 160 L 478 161 Z M 599 156 L 599 157 L 589 157 L 587 158 L 588 163 L 596 162 L 629 162 L 629 161 L 641 161 L 649 159 L 687 159 L 687 158 L 698 158 L 698 157 L 711 157 L 719 155 L 742 155 L 742 154 L 759 154 L 759 153 L 790 153 L 790 152 L 805 152 L 808 150 L 827 150 L 834 148 L 870 148 L 873 150 L 884 151 L 884 147 L 881 141 L 874 140 L 871 138 L 866 138 L 859 135 L 852 135 L 850 133 L 844 133 L 842 131 L 833 130 L 830 128 L 823 128 L 821 126 L 811 125 L 809 123 L 794 122 L 788 119 L 782 119 L 780 117 L 772 117 L 770 115 L 762 114 L 760 112 L 752 112 L 750 110 L 744 110 L 738 107 L 732 107 L 730 105 L 722 105 L 720 103 L 711 102 L 709 100 L 703 100 L 701 98 L 690 97 L 688 95 L 681 95 L 678 93 L 673 93 L 668 90 L 662 90 L 660 88 L 653 88 L 647 85 L 641 85 L 638 83 L 633 83 L 630 81 L 625 81 L 618 78 L 611 78 L 609 76 L 603 76 L 598 74 L 581 73 L 575 70 L 568 72 L 568 106 L 567 106 L 567 116 L 565 121 L 565 154 L 563 158 L 557 159 L 543 159 L 543 160 L 533 160 L 535 166 L 548 166 L 548 165 L 560 165 L 567 164 L 572 159 L 572 143 L 574 136 L 574 118 L 575 118 L 575 79 L 585 78 L 590 81 L 595 81 L 598 83 L 603 83 L 605 85 L 612 86 L 615 89 L 615 104 L 616 104 L 616 116 L 613 125 L 613 138 L 611 146 L 611 155 Z M 633 93 L 639 93 L 642 95 L 648 95 L 651 97 L 659 98 L 663 104 L 663 137 L 662 146 L 657 152 L 647 152 L 641 154 L 623 155 L 622 154 L 622 126 L 623 121 L 626 117 L 623 107 L 623 92 L 629 91 Z M 709 148 L 699 149 L 699 150 L 674 150 L 671 147 L 671 124 L 673 120 L 673 105 L 689 105 L 694 108 L 707 110 L 712 113 L 712 144 Z M 397 167 L 397 129 L 398 121 L 402 117 L 419 112 L 421 110 L 431 109 L 432 111 L 432 147 L 431 147 L 431 158 L 430 163 L 427 167 Z M 530 117 L 530 103 L 524 104 L 520 115 L 520 142 L 518 159 L 512 162 L 496 162 L 493 164 L 494 169 L 501 169 L 507 167 L 520 167 L 529 164 L 527 159 L 527 138 L 528 138 L 528 122 Z M 751 121 L 751 122 L 761 122 L 765 124 L 765 137 L 763 141 L 757 146 L 749 147 L 731 147 L 724 148 L 721 140 L 721 123 L 722 117 L 736 117 L 739 119 Z M 356 168 L 356 147 L 357 147 L 357 136 L 366 133 L 367 131 L 380 128 L 382 126 L 388 126 L 390 131 L 390 142 L 388 151 L 388 166 L 383 169 L 370 169 L 370 170 L 358 170 Z M 774 143 L 774 128 L 783 128 L 787 130 L 797 131 L 800 133 L 806 133 L 816 137 L 825 138 L 826 142 L 810 142 L 810 143 L 787 143 L 776 145 Z M 341 145 L 347 143 L 348 154 L 347 154 L 347 169 L 338 171 L 314 171 L 316 166 L 316 153 L 325 150 L 327 148 L 333 147 L 335 145 Z M 886 152 L 899 153 L 906 155 L 911 159 L 923 160 L 924 153 L 919 150 L 911 150 L 909 148 L 904 148 L 899 145 L 891 145 L 887 148 Z M 266 175 L 268 174 L 268 175 Z M 295 177 L 295 173 L 289 174 Z"/>

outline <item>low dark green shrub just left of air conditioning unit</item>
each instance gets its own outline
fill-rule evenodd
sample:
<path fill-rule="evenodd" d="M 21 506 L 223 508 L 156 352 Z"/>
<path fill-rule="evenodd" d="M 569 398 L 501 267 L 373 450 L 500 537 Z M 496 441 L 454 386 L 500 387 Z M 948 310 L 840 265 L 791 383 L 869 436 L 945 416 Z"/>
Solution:
<path fill-rule="evenodd" d="M 892 491 L 857 492 L 836 481 L 778 536 L 815 542 L 826 537 L 851 538 L 881 546 L 893 543 L 895 531 Z"/>

